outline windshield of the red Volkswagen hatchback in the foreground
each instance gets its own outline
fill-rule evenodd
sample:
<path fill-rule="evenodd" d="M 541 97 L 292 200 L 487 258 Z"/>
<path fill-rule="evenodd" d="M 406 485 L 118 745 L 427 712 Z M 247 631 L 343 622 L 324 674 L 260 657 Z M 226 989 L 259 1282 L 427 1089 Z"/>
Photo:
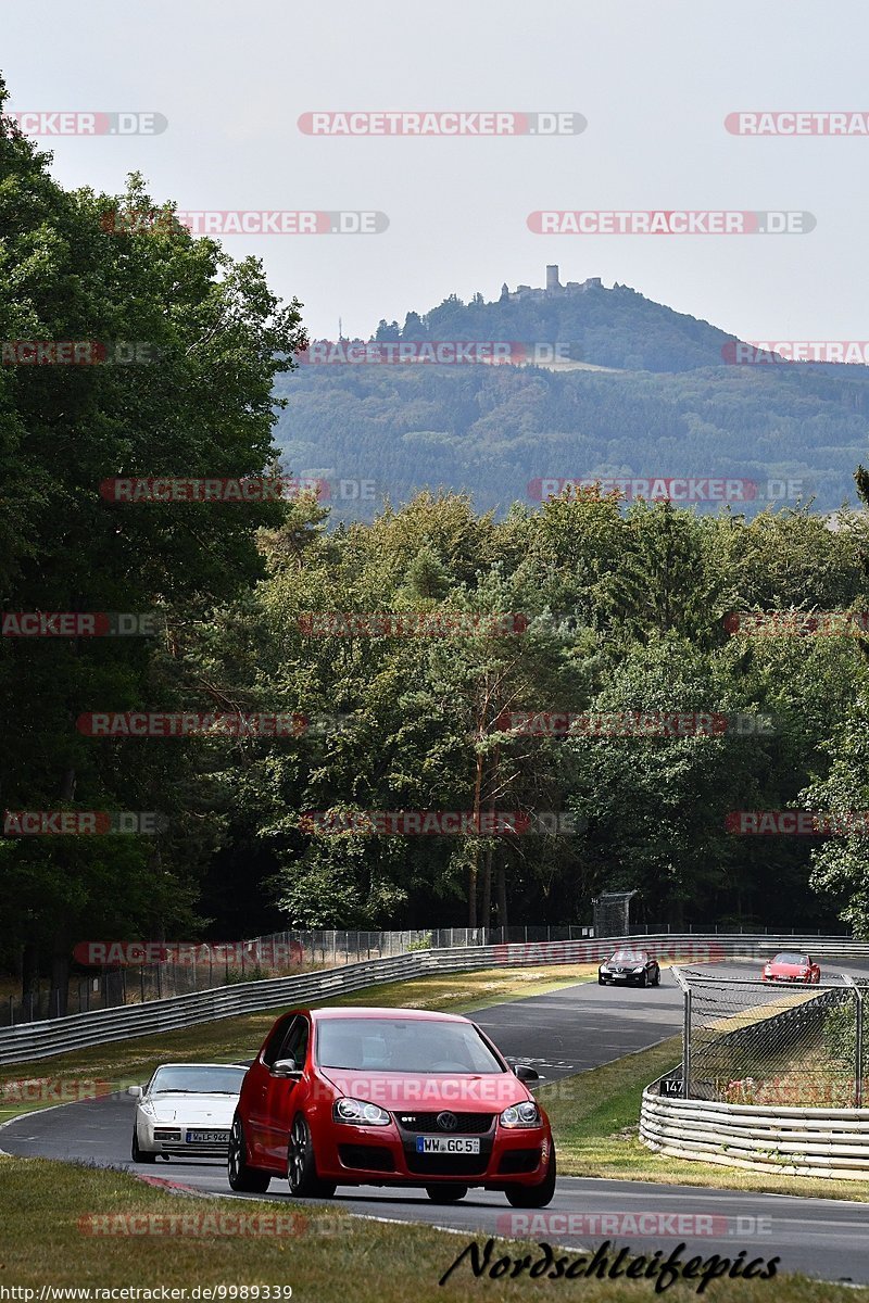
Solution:
<path fill-rule="evenodd" d="M 383 1072 L 503 1072 L 470 1023 L 330 1018 L 318 1024 L 321 1067 Z"/>

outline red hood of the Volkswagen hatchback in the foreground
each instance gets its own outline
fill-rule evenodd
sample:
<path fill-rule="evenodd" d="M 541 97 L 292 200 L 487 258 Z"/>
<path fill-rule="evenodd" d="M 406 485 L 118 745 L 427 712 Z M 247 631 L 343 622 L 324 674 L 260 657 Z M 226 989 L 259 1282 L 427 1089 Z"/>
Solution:
<path fill-rule="evenodd" d="M 533 1098 L 530 1091 L 513 1072 L 426 1074 L 371 1072 L 319 1067 L 341 1095 L 379 1104 L 383 1109 L 434 1110 L 461 1113 L 495 1113 Z"/>

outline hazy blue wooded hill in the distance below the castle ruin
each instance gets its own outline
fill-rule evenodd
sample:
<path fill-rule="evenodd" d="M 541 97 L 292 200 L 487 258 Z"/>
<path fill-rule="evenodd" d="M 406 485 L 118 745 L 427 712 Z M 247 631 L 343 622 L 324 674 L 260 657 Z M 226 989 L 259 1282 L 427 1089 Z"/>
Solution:
<path fill-rule="evenodd" d="M 803 495 L 831 512 L 855 500 L 851 477 L 869 456 L 869 367 L 734 365 L 732 335 L 625 285 L 449 296 L 403 327 L 380 321 L 371 340 L 369 361 L 307 361 L 278 391 L 289 400 L 284 464 L 331 482 L 334 519 L 370 519 L 384 496 L 438 485 L 504 512 L 539 500 L 542 480 L 591 477 L 748 481 L 726 493 L 739 509 Z M 443 341 L 529 361 L 383 361 L 401 344 L 436 356 Z M 336 354 L 353 356 L 349 341 Z M 706 509 L 702 487 L 697 500 Z"/>

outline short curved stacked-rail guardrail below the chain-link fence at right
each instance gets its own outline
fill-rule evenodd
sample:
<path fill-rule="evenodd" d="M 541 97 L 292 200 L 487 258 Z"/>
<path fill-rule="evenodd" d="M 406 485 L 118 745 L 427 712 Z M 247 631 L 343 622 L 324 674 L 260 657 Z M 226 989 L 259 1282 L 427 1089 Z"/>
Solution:
<path fill-rule="evenodd" d="M 674 1158 L 795 1177 L 869 1181 L 869 1110 L 773 1109 L 642 1095 L 640 1139 Z"/>

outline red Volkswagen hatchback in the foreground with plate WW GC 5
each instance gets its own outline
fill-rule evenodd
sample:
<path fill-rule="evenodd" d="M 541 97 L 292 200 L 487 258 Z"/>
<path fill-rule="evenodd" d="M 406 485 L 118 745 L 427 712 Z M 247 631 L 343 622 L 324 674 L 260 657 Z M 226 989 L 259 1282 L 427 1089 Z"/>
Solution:
<path fill-rule="evenodd" d="M 515 1208 L 555 1192 L 548 1118 L 469 1019 L 418 1009 L 281 1015 L 245 1075 L 229 1134 L 233 1190 L 272 1178 L 294 1197 L 337 1186 L 416 1186 L 456 1203 L 470 1186 Z"/>

